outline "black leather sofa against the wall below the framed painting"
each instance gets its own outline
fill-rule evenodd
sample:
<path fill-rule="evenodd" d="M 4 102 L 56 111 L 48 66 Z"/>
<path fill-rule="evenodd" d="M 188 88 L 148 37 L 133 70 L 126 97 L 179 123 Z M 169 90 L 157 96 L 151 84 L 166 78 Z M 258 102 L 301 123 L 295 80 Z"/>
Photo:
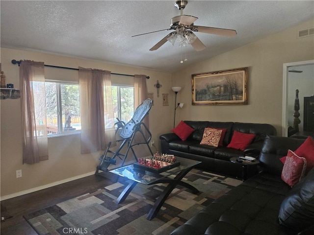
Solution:
<path fill-rule="evenodd" d="M 195 129 L 195 131 L 185 141 L 182 141 L 174 133 L 160 135 L 161 152 L 201 161 L 202 164 L 199 164 L 198 168 L 234 177 L 242 177 L 242 166 L 230 162 L 230 159 L 239 156 L 258 156 L 266 135 L 276 135 L 275 127 L 270 124 L 215 121 L 184 122 Z M 206 127 L 227 129 L 223 146 L 200 145 Z M 227 145 L 230 143 L 234 131 L 255 134 L 256 137 L 244 151 L 228 148 Z M 249 176 L 256 173 L 256 166 L 248 167 Z"/>

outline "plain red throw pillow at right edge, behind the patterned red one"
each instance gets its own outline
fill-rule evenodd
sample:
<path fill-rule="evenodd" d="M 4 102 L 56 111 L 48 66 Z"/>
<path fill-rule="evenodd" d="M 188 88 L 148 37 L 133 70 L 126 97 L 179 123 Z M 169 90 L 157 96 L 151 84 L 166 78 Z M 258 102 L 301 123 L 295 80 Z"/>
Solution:
<path fill-rule="evenodd" d="M 296 155 L 306 159 L 307 168 L 305 174 L 307 174 L 314 166 L 314 140 L 309 136 L 294 152 Z M 287 156 L 279 160 L 285 164 L 286 158 Z"/>

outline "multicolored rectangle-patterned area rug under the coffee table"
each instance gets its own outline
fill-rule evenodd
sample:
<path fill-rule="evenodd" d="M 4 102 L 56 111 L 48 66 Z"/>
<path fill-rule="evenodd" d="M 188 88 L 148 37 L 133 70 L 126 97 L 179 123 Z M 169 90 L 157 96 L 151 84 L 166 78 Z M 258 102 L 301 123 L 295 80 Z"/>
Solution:
<path fill-rule="evenodd" d="M 198 169 L 192 169 L 183 180 L 200 192 L 192 194 L 178 186 L 150 221 L 147 213 L 167 184 L 137 184 L 117 205 L 115 200 L 130 182 L 123 179 L 24 218 L 38 235 L 169 235 L 214 199 L 242 183 Z"/>

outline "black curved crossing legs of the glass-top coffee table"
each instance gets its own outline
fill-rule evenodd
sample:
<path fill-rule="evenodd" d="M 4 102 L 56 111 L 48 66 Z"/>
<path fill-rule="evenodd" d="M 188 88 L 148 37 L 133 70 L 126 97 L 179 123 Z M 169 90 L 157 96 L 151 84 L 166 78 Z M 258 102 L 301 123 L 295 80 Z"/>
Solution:
<path fill-rule="evenodd" d="M 149 211 L 146 219 L 148 220 L 152 220 L 153 218 L 155 218 L 155 216 L 157 215 L 158 211 L 160 210 L 161 206 L 163 205 L 163 203 L 166 201 L 167 197 L 170 195 L 170 193 L 172 192 L 172 190 L 174 188 L 176 188 L 177 185 L 181 185 L 189 190 L 191 190 L 192 193 L 196 194 L 199 192 L 199 190 L 193 186 L 191 186 L 190 184 L 187 184 L 185 182 L 182 181 L 183 177 L 194 167 L 190 166 L 187 167 L 185 169 L 183 169 L 182 171 L 179 172 L 179 174 L 175 177 L 175 178 L 161 178 L 155 182 L 153 182 L 152 184 L 149 185 L 155 185 L 155 184 L 160 184 L 160 183 L 168 183 L 168 186 L 163 190 L 163 192 L 159 195 L 159 197 L 157 198 L 154 206 L 151 208 L 151 210 Z M 118 197 L 118 199 L 116 200 L 116 204 L 122 203 L 124 202 L 124 200 L 128 197 L 129 193 L 132 191 L 132 189 L 137 185 L 136 181 L 132 181 L 130 182 L 130 184 L 123 190 L 123 192 L 120 194 L 120 196 Z"/>

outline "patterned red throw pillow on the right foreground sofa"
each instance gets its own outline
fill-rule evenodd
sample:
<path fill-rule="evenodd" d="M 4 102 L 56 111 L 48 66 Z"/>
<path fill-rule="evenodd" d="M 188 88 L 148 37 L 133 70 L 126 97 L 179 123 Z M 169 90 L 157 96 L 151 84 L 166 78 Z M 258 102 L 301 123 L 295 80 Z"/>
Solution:
<path fill-rule="evenodd" d="M 300 158 L 289 149 L 283 171 L 281 172 L 281 179 L 293 188 L 304 177 L 306 166 L 306 159 Z"/>

